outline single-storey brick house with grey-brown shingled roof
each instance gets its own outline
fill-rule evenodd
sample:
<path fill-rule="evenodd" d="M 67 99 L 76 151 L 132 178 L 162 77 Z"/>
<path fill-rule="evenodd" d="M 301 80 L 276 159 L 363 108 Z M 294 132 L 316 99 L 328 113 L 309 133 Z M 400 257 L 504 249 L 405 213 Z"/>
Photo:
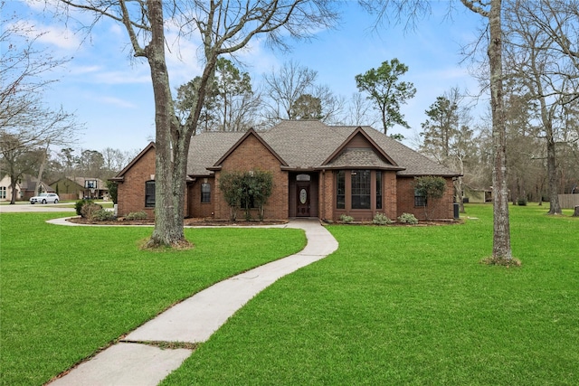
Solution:
<path fill-rule="evenodd" d="M 191 139 L 187 163 L 185 216 L 228 219 L 219 190 L 220 174 L 260 169 L 273 174 L 265 219 L 341 214 L 371 221 L 376 213 L 395 219 L 403 212 L 424 219 L 452 219 L 457 174 L 372 127 L 327 126 L 317 120 L 287 120 L 268 131 L 203 133 Z M 414 177 L 447 181 L 441 199 L 414 194 Z M 155 208 L 155 145 L 150 143 L 113 181 L 119 183 L 119 215 Z M 257 212 L 256 212 L 257 213 Z M 257 214 L 253 215 L 257 218 Z"/>

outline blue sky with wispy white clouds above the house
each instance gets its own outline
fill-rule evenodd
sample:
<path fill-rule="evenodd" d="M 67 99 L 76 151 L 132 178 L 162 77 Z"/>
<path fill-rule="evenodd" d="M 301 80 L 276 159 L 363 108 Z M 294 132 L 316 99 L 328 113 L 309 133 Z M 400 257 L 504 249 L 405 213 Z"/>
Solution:
<path fill-rule="evenodd" d="M 297 61 L 318 71 L 318 83 L 346 99 L 357 92 L 356 74 L 398 58 L 409 67 L 403 80 L 412 81 L 417 92 L 403 105 L 403 114 L 413 130 L 394 127 L 392 133 L 413 137 L 426 119 L 424 110 L 436 97 L 451 87 L 478 90 L 466 65 L 460 64 L 464 59 L 460 47 L 476 39 L 483 21 L 456 3 L 452 20 L 445 19 L 448 4 L 443 2 L 433 5 L 432 15 L 413 31 L 390 25 L 377 32 L 372 28 L 374 16 L 366 14 L 356 2 L 346 3 L 337 30 L 320 31 L 312 42 L 294 42 L 291 52 L 271 51 L 254 41 L 238 58 L 254 82 L 286 61 Z M 45 96 L 48 104 L 62 105 L 84 123 L 86 129 L 76 147 L 129 151 L 146 146 L 155 133 L 153 92 L 147 62 L 131 58 L 127 33 L 108 21 L 98 24 L 89 37 L 74 33 L 62 21 L 43 14 L 43 2 L 33 0 L 8 1 L 5 13 L 11 10 L 45 33 L 39 42 L 55 56 L 72 57 L 62 69 L 50 74 L 60 81 Z M 171 38 L 169 34 L 169 43 Z M 168 58 L 174 88 L 200 75 L 196 49 L 195 42 L 182 41 L 177 55 L 179 50 L 174 47 Z M 413 145 L 410 141 L 405 143 Z"/>

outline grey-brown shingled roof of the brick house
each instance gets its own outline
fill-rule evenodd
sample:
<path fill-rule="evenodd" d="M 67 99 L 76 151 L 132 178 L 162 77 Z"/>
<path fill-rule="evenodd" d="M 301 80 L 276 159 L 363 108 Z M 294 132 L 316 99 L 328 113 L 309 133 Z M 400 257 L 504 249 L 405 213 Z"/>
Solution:
<path fill-rule="evenodd" d="M 314 170 L 322 167 L 377 167 L 397 170 L 399 175 L 459 175 L 433 162 L 411 148 L 372 127 L 359 127 L 379 149 L 344 149 L 358 127 L 327 126 L 318 120 L 284 120 L 268 131 L 256 134 L 271 147 L 287 166 L 284 169 Z M 223 155 L 235 146 L 245 133 L 203 133 L 191 139 L 187 174 L 211 175 Z M 385 157 L 384 157 L 385 155 Z M 389 158 L 389 159 L 388 159 Z M 393 162 L 394 165 L 391 163 Z"/>

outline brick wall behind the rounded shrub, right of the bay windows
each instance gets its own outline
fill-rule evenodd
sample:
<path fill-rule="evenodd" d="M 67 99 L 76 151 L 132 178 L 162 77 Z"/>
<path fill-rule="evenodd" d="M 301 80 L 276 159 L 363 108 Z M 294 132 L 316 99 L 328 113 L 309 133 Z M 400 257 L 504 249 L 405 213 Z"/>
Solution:
<path fill-rule="evenodd" d="M 414 206 L 414 178 L 399 177 L 397 181 L 398 190 L 398 211 L 400 216 L 403 212 L 412 213 L 418 220 L 425 220 L 424 207 Z M 428 202 L 427 211 L 430 218 L 440 220 L 451 220 L 454 218 L 452 207 L 454 186 L 451 178 L 446 178 L 446 192 L 441 199 Z"/>

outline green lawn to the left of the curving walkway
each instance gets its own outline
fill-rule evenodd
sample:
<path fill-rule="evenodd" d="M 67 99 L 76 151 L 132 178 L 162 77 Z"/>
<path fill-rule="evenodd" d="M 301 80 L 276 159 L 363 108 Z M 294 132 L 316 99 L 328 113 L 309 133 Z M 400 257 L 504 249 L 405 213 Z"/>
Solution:
<path fill-rule="evenodd" d="M 168 306 L 303 248 L 299 230 L 186 229 L 187 251 L 138 249 L 151 228 L 62 227 L 0 214 L 1 384 L 39 385 Z"/>

